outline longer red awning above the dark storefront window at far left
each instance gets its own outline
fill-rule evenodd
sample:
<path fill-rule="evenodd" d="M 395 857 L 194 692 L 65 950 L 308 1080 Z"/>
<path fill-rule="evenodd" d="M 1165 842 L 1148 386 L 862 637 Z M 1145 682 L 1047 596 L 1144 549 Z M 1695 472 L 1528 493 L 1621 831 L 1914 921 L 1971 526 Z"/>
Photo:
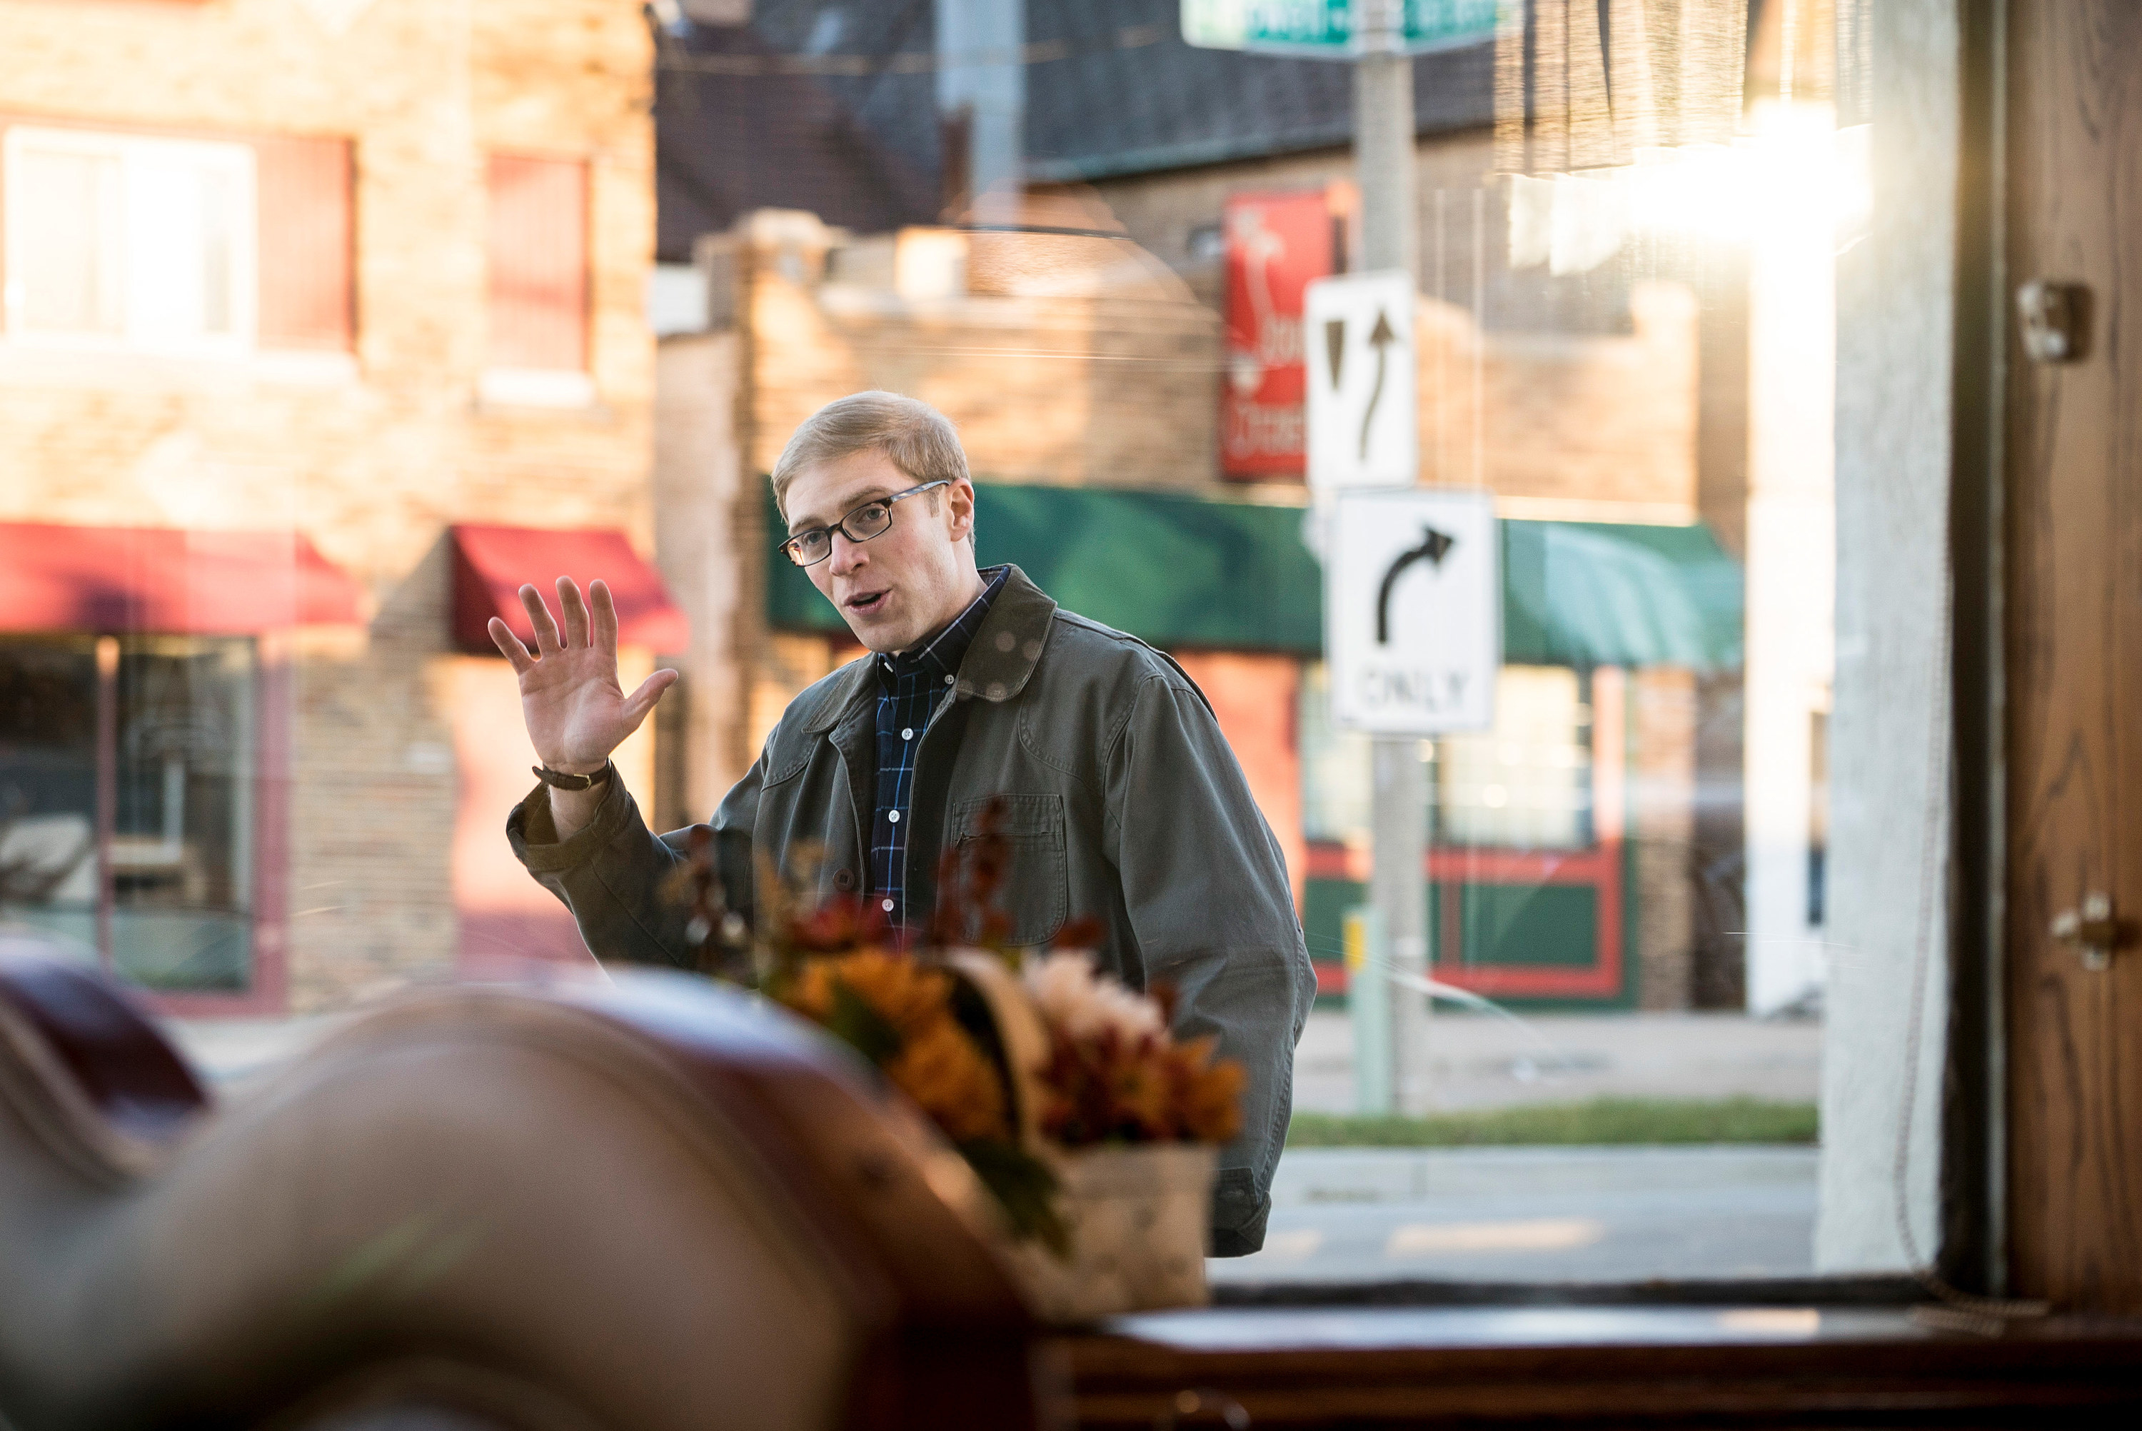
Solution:
<path fill-rule="evenodd" d="M 362 621 L 298 531 L 0 523 L 0 630 L 238 636 Z"/>

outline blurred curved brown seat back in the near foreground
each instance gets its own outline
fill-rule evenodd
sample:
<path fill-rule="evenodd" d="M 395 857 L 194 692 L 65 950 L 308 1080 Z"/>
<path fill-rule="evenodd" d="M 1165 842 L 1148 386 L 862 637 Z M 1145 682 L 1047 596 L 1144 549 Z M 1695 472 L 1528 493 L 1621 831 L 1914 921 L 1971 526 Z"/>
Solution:
<path fill-rule="evenodd" d="M 11 1425 L 1026 1427 L 949 1148 L 720 985 L 437 990 L 212 1108 L 0 940 Z"/>

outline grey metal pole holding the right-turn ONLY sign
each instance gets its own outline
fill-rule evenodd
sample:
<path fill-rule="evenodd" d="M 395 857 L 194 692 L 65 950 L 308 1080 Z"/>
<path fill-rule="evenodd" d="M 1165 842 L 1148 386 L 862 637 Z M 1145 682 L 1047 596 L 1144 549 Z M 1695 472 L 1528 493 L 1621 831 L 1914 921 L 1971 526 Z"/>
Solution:
<path fill-rule="evenodd" d="M 1414 201 L 1414 62 L 1403 47 L 1403 0 L 1356 0 L 1360 6 L 1354 60 L 1354 165 L 1360 182 L 1360 257 L 1364 270 L 1418 272 Z M 1412 401 L 1412 392 L 1405 394 Z M 1384 953 L 1394 973 L 1427 977 L 1429 782 L 1422 741 L 1377 735 L 1371 745 L 1373 874 L 1369 900 L 1379 913 Z M 1384 977 L 1369 970 L 1371 977 Z M 1429 998 L 1418 988 L 1386 985 L 1356 1015 L 1356 1050 L 1392 1050 L 1399 1110 L 1427 1112 Z M 1349 1000 L 1352 1003 L 1352 1000 Z M 1382 1022 L 1364 1028 L 1360 1020 Z M 1362 1080 L 1367 1093 L 1375 1080 Z"/>

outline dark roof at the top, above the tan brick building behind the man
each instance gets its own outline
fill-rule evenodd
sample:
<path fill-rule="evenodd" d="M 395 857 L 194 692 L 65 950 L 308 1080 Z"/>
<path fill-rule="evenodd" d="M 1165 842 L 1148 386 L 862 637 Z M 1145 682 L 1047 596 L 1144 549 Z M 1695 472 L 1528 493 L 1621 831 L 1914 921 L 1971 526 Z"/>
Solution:
<path fill-rule="evenodd" d="M 754 208 L 863 234 L 940 212 L 932 0 L 756 0 L 664 39 L 660 255 Z M 1180 0 L 1026 0 L 1026 159 L 1095 180 L 1347 144 L 1352 66 L 1182 43 Z M 1493 45 L 1414 62 L 1420 133 L 1493 122 Z"/>

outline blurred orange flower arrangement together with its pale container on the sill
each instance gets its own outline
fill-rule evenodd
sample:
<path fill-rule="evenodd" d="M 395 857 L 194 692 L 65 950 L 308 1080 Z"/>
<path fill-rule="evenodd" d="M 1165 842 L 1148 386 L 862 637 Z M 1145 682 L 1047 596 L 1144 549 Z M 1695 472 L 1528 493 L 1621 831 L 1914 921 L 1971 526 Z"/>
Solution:
<path fill-rule="evenodd" d="M 1170 1033 L 1157 998 L 1101 975 L 1092 921 L 1062 949 L 1017 949 L 996 893 L 1009 868 L 1002 803 L 947 850 L 930 932 L 902 938 L 853 895 L 805 906 L 763 883 L 752 977 L 885 1071 L 957 1146 L 994 1193 L 1011 1236 L 998 1245 L 1028 1309 L 1045 1322 L 1202 1307 L 1219 1148 L 1242 1129 L 1240 1063 L 1217 1039 Z M 713 846 L 692 844 L 703 968 L 728 917 Z M 979 947 L 977 947 L 979 945 Z"/>

